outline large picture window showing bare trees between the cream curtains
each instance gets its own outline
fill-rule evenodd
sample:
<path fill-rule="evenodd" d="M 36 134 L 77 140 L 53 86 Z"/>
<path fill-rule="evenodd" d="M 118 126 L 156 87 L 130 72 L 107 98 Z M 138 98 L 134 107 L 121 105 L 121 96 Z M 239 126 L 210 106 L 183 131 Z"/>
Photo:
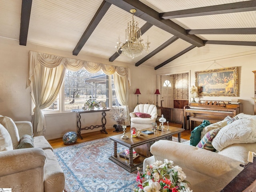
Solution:
<path fill-rule="evenodd" d="M 58 98 L 43 111 L 52 113 L 81 109 L 84 102 L 89 99 L 95 99 L 106 107 L 120 106 L 116 98 L 113 75 L 108 76 L 101 71 L 92 74 L 86 70 L 76 72 L 66 70 Z"/>

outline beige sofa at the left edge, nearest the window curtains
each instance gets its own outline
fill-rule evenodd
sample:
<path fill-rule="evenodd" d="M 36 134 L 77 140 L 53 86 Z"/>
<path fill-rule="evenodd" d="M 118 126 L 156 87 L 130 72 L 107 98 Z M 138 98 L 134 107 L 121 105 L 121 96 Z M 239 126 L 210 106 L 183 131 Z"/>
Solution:
<path fill-rule="evenodd" d="M 33 138 L 34 147 L 20 148 L 19 138 L 32 136 L 31 122 L 13 122 L 0 116 L 0 123 L 1 188 L 12 188 L 12 192 L 62 192 L 65 187 L 64 172 L 44 136 Z M 4 144 L 4 140 L 9 144 Z"/>

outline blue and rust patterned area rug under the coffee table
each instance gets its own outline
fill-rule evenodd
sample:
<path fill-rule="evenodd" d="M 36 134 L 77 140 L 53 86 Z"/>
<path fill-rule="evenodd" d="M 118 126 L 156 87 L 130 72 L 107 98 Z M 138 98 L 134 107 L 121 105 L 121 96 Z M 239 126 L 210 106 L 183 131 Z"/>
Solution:
<path fill-rule="evenodd" d="M 103 138 L 54 149 L 66 177 L 65 192 L 132 192 L 137 171 L 130 173 L 110 161 L 113 148 L 114 142 Z M 124 149 L 118 144 L 118 152 Z"/>

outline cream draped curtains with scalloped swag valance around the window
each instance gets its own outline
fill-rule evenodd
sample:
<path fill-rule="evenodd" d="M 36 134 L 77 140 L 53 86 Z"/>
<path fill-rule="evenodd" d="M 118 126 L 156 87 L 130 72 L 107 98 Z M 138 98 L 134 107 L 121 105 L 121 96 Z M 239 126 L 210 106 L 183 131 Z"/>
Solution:
<path fill-rule="evenodd" d="M 64 58 L 39 52 L 29 52 L 28 76 L 26 88 L 32 84 L 32 99 L 36 107 L 32 120 L 34 136 L 43 134 L 46 129 L 41 109 L 50 106 L 56 100 L 64 80 L 65 70 L 78 71 L 82 68 L 90 73 L 100 70 L 107 75 L 114 74 L 118 102 L 128 108 L 128 89 L 130 88 L 130 69 L 119 66 L 87 62 L 73 58 Z M 116 80 L 115 80 L 116 79 Z M 130 122 L 130 121 L 128 121 Z"/>

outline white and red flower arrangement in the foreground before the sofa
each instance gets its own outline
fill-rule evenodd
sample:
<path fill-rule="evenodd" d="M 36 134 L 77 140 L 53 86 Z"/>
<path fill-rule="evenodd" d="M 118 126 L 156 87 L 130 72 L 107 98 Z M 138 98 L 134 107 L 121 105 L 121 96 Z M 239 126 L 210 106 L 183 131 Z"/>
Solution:
<path fill-rule="evenodd" d="M 147 165 L 145 173 L 140 173 L 136 181 L 139 183 L 134 192 L 192 192 L 186 174 L 179 166 L 172 166 L 173 162 L 167 159 Z"/>

